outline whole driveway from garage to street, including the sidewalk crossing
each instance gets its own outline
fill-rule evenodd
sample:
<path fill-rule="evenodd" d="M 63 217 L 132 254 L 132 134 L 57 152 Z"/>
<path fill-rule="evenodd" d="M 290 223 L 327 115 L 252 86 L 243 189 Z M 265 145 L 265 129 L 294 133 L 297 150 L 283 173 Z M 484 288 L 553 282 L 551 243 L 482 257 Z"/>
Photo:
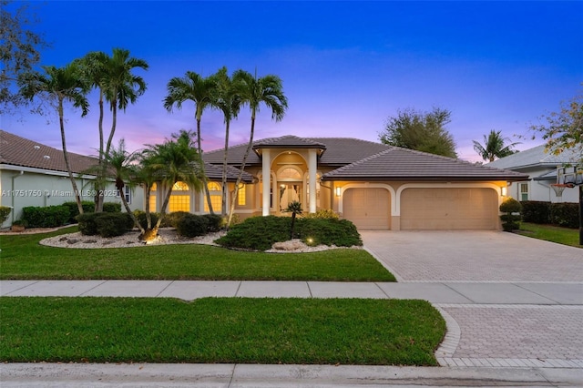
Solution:
<path fill-rule="evenodd" d="M 361 234 L 408 288 L 459 293 L 427 298 L 447 322 L 441 364 L 583 368 L 583 250 L 499 231 Z"/>

